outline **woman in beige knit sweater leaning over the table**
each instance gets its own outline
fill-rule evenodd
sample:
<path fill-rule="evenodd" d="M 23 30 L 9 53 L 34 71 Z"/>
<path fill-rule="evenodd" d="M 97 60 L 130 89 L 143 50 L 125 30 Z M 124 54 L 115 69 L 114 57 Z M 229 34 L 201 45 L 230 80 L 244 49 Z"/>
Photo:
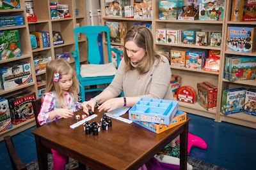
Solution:
<path fill-rule="evenodd" d="M 84 102 L 83 110 L 100 104 L 99 111 L 132 107 L 141 97 L 173 100 L 172 73 L 166 56 L 156 53 L 151 32 L 142 26 L 132 27 L 124 39 L 124 59 L 111 84 L 98 96 Z M 120 96 L 124 91 L 125 97 Z"/>

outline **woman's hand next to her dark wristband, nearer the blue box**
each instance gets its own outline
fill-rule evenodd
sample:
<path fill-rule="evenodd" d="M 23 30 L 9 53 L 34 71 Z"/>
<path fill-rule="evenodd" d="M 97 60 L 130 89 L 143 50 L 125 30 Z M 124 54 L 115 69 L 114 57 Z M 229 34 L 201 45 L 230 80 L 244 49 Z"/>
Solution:
<path fill-rule="evenodd" d="M 118 98 L 113 98 L 113 99 L 108 99 L 108 101 L 105 101 L 99 106 L 99 112 L 104 110 L 104 111 L 113 111 L 121 106 L 124 105 L 124 98 L 123 97 L 118 97 Z"/>

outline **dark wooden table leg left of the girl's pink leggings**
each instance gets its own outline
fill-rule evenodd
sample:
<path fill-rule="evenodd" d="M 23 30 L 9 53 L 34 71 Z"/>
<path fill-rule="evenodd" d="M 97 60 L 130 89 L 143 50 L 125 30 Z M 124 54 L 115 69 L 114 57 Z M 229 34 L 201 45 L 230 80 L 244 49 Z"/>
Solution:
<path fill-rule="evenodd" d="M 36 141 L 36 153 L 37 153 L 39 169 L 47 170 L 48 169 L 47 148 L 44 145 L 42 145 L 40 138 L 36 135 L 35 135 L 35 141 Z"/>

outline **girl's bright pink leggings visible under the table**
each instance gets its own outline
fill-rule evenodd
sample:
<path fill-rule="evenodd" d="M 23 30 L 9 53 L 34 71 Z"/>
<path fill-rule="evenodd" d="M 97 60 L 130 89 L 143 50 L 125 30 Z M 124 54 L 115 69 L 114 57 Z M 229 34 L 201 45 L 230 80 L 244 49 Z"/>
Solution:
<path fill-rule="evenodd" d="M 53 170 L 65 170 L 67 156 L 56 150 L 51 150 L 53 155 Z"/>

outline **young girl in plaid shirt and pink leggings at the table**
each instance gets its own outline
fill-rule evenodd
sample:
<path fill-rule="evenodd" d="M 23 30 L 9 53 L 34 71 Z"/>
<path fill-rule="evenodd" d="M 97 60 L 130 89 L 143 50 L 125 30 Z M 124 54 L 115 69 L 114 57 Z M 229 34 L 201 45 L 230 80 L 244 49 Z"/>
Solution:
<path fill-rule="evenodd" d="M 76 71 L 64 59 L 55 59 L 47 63 L 46 90 L 37 121 L 40 125 L 48 124 L 59 118 L 70 118 L 74 111 L 83 108 L 79 103 L 79 82 Z M 53 169 L 65 169 L 67 157 L 52 150 Z"/>

